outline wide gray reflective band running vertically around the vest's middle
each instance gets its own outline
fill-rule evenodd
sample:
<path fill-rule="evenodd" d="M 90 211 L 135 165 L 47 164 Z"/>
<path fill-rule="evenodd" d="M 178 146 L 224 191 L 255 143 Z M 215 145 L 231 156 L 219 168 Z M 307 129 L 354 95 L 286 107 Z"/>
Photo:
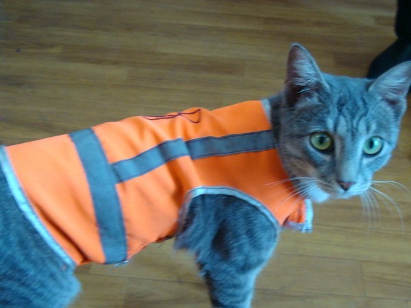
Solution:
<path fill-rule="evenodd" d="M 70 134 L 86 172 L 95 207 L 105 263 L 127 259 L 127 240 L 116 181 L 101 144 L 92 129 Z"/>

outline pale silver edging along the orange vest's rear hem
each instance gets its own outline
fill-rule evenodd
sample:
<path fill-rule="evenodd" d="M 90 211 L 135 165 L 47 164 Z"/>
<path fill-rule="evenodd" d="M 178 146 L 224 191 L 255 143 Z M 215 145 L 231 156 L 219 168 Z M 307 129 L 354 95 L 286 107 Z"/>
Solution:
<path fill-rule="evenodd" d="M 4 146 L 0 146 L 0 166 L 14 200 L 25 218 L 29 220 L 34 229 L 36 229 L 42 239 L 45 240 L 51 250 L 54 251 L 54 253 L 58 255 L 58 257 L 60 257 L 70 268 L 74 268 L 75 262 L 73 259 L 71 259 L 60 244 L 54 240 L 53 236 L 49 233 L 49 231 L 47 231 L 46 227 L 40 221 L 40 218 L 38 218 L 37 214 L 34 212 L 29 199 L 21 187 L 20 181 L 18 181 L 16 174 L 14 173 L 13 166 L 10 163 L 10 159 Z"/>

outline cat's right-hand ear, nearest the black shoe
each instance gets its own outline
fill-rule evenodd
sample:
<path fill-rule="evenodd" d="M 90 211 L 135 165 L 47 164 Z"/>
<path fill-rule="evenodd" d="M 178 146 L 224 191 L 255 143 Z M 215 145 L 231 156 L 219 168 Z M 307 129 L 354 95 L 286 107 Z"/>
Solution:
<path fill-rule="evenodd" d="M 377 96 L 379 101 L 385 101 L 401 115 L 406 109 L 406 96 L 411 85 L 411 61 L 394 66 L 379 76 L 369 92 Z"/>

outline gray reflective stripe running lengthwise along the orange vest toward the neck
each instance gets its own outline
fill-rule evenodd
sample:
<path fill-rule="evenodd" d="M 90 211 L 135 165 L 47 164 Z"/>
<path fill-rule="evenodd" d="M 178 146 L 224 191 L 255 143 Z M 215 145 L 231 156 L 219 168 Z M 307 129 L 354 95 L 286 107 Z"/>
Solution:
<path fill-rule="evenodd" d="M 140 177 L 167 162 L 179 157 L 190 156 L 201 159 L 213 156 L 260 152 L 275 149 L 273 132 L 257 131 L 233 134 L 224 137 L 205 137 L 184 141 L 181 138 L 155 146 L 140 155 L 112 164 L 117 181 L 122 183 Z"/>

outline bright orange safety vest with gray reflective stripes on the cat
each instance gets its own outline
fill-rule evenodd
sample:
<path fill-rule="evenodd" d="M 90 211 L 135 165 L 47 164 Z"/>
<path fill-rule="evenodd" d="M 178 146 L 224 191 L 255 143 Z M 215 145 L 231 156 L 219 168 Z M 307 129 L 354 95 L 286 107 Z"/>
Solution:
<path fill-rule="evenodd" d="M 200 194 L 238 196 L 280 225 L 309 223 L 272 134 L 262 102 L 249 101 L 135 116 L 0 154 L 43 238 L 77 265 L 108 264 L 173 236 L 180 209 Z"/>

